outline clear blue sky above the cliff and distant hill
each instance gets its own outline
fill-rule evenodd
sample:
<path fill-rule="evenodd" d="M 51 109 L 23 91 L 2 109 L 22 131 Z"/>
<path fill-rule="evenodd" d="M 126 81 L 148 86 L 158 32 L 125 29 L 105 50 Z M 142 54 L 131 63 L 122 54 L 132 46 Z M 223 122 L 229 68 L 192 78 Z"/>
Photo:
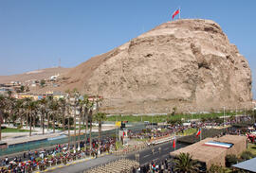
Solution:
<path fill-rule="evenodd" d="M 59 59 L 76 66 L 167 22 L 178 7 L 181 18 L 222 26 L 249 61 L 254 87 L 255 0 L 0 0 L 0 75 L 56 66 Z"/>

